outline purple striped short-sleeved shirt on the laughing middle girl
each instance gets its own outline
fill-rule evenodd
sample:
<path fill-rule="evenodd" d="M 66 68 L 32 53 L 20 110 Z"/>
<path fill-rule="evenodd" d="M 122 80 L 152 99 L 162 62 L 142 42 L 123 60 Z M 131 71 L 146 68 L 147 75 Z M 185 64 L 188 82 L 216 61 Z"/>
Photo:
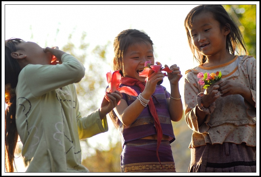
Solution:
<path fill-rule="evenodd" d="M 121 84 L 120 87 L 125 86 Z M 128 86 L 134 89 L 137 94 L 141 93 L 138 86 Z M 125 99 L 128 105 L 131 105 L 137 97 L 122 93 L 122 99 Z M 175 140 L 174 131 L 169 115 L 169 109 L 166 98 L 170 98 L 169 92 L 162 85 L 157 85 L 155 92 L 152 94 L 153 103 L 158 113 L 158 119 L 164 135 L 169 136 L 169 142 Z M 122 145 L 125 142 L 140 139 L 142 137 L 157 134 L 156 128 L 154 127 L 154 118 L 152 117 L 148 105 L 142 110 L 142 113 L 137 117 L 130 126 L 124 126 L 118 119 L 119 127 L 117 127 L 120 135 Z"/>

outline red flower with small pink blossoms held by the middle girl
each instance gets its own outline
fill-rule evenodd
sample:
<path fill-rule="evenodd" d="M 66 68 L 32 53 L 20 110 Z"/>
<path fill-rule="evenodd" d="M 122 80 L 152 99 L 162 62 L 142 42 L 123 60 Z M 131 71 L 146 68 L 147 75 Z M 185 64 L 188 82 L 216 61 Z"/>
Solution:
<path fill-rule="evenodd" d="M 160 62 L 155 62 L 156 65 L 153 65 L 151 61 L 147 61 L 144 64 L 144 69 L 142 72 L 139 72 L 139 76 L 142 77 L 148 77 L 149 75 L 151 75 L 153 72 L 158 72 L 160 71 L 166 71 L 166 72 L 172 72 L 171 69 L 169 69 L 169 67 L 162 67 L 162 64 Z M 166 73 L 163 73 L 164 76 L 168 75 Z M 158 81 L 157 85 L 160 85 L 163 83 L 163 79 L 161 81 Z"/>

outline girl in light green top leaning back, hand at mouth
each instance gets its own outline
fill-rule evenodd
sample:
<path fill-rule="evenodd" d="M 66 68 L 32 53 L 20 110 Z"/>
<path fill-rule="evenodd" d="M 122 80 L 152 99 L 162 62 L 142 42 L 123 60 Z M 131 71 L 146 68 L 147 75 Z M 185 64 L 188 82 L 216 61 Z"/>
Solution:
<path fill-rule="evenodd" d="M 74 83 L 85 67 L 58 47 L 19 38 L 5 40 L 5 166 L 13 172 L 18 135 L 26 172 L 89 172 L 80 139 L 108 131 L 106 114 L 120 101 L 105 93 L 102 105 L 82 117 Z"/>

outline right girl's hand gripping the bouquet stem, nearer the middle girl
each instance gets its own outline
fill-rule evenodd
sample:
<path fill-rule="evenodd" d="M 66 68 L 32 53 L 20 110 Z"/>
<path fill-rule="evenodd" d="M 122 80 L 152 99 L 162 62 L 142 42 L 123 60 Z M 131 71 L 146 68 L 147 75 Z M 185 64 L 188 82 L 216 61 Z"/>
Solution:
<path fill-rule="evenodd" d="M 209 105 L 214 103 L 216 99 L 219 98 L 220 94 L 218 94 L 219 84 L 222 83 L 222 80 L 210 85 L 205 91 L 204 95 L 202 96 L 202 104 L 205 108 L 208 108 Z"/>

